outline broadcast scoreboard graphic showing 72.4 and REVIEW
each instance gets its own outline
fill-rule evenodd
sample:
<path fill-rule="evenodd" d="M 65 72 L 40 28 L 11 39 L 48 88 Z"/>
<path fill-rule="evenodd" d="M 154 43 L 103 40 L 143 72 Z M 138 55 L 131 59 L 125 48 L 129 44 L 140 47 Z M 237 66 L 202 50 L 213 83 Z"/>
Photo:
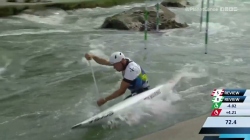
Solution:
<path fill-rule="evenodd" d="M 199 134 L 203 140 L 250 140 L 250 90 L 214 89 L 212 113 Z"/>

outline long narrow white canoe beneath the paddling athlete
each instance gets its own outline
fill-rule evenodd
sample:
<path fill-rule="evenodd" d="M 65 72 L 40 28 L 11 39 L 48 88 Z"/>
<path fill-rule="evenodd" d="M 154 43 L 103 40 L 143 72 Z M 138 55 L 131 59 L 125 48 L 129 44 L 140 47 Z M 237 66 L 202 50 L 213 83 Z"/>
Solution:
<path fill-rule="evenodd" d="M 163 85 L 160 85 L 158 87 L 155 87 L 153 89 L 150 89 L 150 90 L 147 90 L 143 93 L 140 93 L 136 96 L 130 97 L 122 102 L 119 102 L 119 103 L 113 105 L 112 107 L 100 112 L 99 114 L 97 114 L 97 115 L 95 115 L 95 116 L 93 116 L 93 117 L 91 117 L 91 118 L 89 118 L 81 123 L 74 125 L 72 127 L 72 129 L 84 128 L 84 127 L 99 124 L 100 122 L 107 120 L 108 118 L 110 118 L 114 114 L 122 111 L 123 109 L 125 109 L 129 106 L 132 106 L 133 104 L 136 104 L 142 100 L 152 99 L 155 96 L 162 93 L 162 91 L 161 91 L 162 86 Z"/>

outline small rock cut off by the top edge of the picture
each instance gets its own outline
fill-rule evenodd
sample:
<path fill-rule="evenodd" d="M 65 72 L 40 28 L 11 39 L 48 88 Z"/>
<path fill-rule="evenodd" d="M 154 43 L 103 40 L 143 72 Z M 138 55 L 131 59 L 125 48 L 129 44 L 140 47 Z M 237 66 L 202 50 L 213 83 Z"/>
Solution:
<path fill-rule="evenodd" d="M 185 8 L 190 3 L 187 0 L 164 0 L 161 4 L 165 7 L 180 7 Z"/>

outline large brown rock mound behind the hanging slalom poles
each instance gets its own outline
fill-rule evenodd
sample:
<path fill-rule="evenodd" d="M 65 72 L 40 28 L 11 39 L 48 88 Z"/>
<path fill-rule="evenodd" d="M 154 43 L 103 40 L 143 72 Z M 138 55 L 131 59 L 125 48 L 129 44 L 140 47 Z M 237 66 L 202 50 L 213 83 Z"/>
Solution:
<path fill-rule="evenodd" d="M 159 29 L 184 28 L 186 23 L 178 23 L 175 20 L 175 13 L 160 4 L 159 10 Z M 143 31 L 145 25 L 145 7 L 135 7 L 128 11 L 107 17 L 101 28 Z M 156 30 L 157 16 L 155 6 L 148 7 L 148 31 Z"/>

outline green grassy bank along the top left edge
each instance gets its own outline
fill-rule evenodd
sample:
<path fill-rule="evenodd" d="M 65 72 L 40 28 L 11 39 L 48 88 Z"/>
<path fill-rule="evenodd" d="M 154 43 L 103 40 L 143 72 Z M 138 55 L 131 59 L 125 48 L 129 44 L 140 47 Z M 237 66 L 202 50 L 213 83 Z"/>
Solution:
<path fill-rule="evenodd" d="M 0 17 L 6 17 L 21 13 L 26 9 L 46 9 L 48 7 L 61 8 L 63 10 L 73 10 L 80 8 L 108 8 L 116 5 L 123 5 L 132 2 L 143 2 L 144 0 L 91 0 L 91 1 L 73 1 L 73 2 L 48 2 L 48 3 L 10 3 L 0 6 Z"/>

